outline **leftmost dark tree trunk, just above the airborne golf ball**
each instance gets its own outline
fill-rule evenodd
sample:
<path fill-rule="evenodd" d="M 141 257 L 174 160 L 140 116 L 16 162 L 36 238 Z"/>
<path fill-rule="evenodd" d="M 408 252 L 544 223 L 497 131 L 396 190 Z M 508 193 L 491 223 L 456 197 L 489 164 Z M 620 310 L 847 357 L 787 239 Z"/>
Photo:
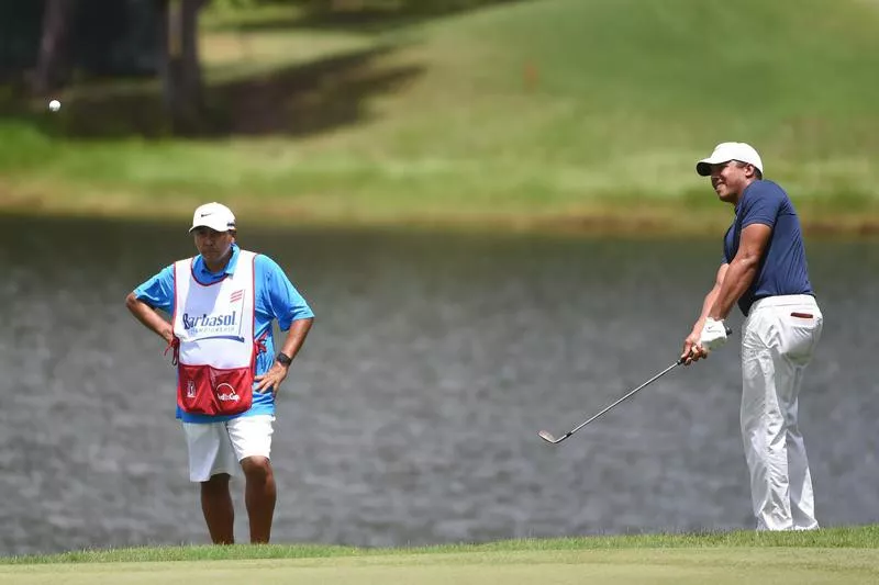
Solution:
<path fill-rule="evenodd" d="M 46 0 L 40 53 L 31 83 L 36 95 L 46 95 L 68 77 L 71 61 L 66 49 L 69 48 L 67 41 L 75 2 L 76 0 Z"/>

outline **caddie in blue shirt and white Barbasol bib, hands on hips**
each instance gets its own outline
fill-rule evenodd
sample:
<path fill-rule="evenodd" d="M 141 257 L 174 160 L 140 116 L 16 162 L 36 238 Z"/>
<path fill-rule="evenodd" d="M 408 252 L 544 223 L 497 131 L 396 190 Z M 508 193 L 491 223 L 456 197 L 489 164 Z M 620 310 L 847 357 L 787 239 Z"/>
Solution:
<path fill-rule="evenodd" d="M 201 484 L 211 540 L 235 541 L 229 481 L 241 465 L 251 542 L 268 542 L 276 499 L 269 460 L 275 397 L 313 314 L 277 263 L 238 247 L 235 216 L 225 205 L 198 207 L 189 232 L 198 256 L 165 268 L 125 304 L 174 350 L 189 479 Z M 276 319 L 288 331 L 277 352 Z"/>

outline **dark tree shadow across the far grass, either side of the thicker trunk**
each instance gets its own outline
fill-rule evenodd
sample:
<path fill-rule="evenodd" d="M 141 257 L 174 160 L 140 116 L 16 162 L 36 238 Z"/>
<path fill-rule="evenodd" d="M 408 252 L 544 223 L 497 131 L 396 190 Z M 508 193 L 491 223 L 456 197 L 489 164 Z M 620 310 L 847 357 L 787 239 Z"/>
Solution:
<path fill-rule="evenodd" d="M 212 85 L 205 91 L 204 120 L 188 136 L 307 136 L 365 122 L 370 97 L 394 91 L 422 72 L 420 66 L 383 63 L 381 57 L 392 50 L 360 50 Z M 16 116 L 46 134 L 80 139 L 171 134 L 155 82 L 96 87 L 65 100 L 58 114 L 21 109 Z"/>

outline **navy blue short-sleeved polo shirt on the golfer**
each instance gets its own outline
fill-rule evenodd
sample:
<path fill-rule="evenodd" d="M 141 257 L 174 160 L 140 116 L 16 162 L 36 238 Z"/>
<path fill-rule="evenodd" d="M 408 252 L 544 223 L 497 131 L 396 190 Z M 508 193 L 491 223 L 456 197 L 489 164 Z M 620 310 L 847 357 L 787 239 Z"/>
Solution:
<path fill-rule="evenodd" d="M 760 258 L 757 277 L 738 300 L 745 315 L 759 299 L 783 294 L 812 294 L 809 267 L 805 261 L 800 218 L 790 198 L 772 181 L 754 181 L 742 193 L 735 207 L 735 220 L 723 240 L 726 263 L 733 261 L 738 251 L 742 229 L 750 224 L 764 224 L 772 228 L 766 250 Z"/>

